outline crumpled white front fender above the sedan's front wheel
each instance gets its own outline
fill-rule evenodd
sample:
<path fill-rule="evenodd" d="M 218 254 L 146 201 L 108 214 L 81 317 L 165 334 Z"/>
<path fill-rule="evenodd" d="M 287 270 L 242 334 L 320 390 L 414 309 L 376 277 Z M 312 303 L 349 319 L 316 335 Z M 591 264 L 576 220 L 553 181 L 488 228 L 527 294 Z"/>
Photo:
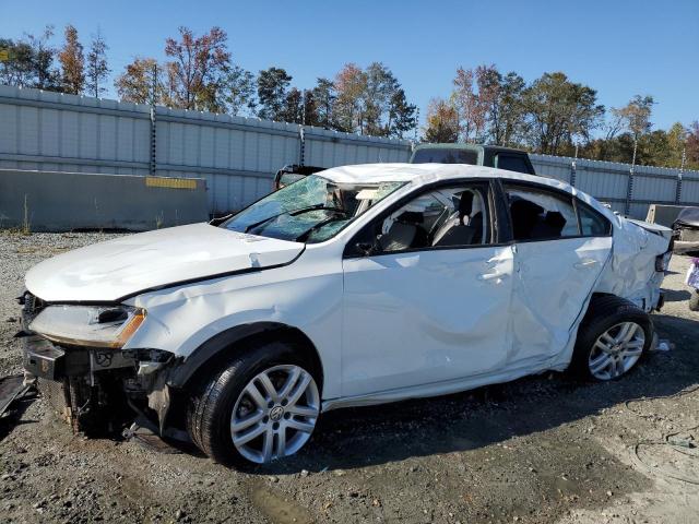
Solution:
<path fill-rule="evenodd" d="M 196 359 L 191 364 L 196 369 L 208 352 L 216 353 L 222 344 L 229 345 L 273 325 L 293 327 L 318 352 L 327 379 L 324 394 L 336 396 L 343 281 L 342 272 L 333 269 L 341 266 L 337 263 L 336 267 L 330 264 L 293 267 L 135 297 L 133 305 L 146 310 L 146 320 L 125 349 L 167 350 L 185 362 Z M 200 353 L 203 347 L 208 349 Z M 182 377 L 188 374 L 189 371 L 183 372 Z"/>

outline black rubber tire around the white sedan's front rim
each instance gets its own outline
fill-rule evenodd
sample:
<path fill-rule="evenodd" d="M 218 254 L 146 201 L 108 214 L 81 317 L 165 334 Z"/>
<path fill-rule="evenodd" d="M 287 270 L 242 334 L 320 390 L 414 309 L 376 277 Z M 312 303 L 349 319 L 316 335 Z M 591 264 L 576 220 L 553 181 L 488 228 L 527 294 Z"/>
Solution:
<path fill-rule="evenodd" d="M 258 373 L 285 364 L 303 367 L 320 384 L 312 367 L 291 345 L 282 342 L 264 342 L 241 350 L 224 360 L 217 372 L 201 378 L 192 386 L 186 413 L 187 431 L 197 448 L 221 464 L 250 465 L 232 441 L 234 405 L 246 384 Z"/>

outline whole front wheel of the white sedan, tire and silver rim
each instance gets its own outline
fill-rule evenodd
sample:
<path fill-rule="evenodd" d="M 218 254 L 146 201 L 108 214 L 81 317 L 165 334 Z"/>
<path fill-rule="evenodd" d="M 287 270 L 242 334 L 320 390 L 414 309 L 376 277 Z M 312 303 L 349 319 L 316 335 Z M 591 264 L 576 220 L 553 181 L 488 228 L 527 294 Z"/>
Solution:
<path fill-rule="evenodd" d="M 192 441 L 223 464 L 268 463 L 293 455 L 320 413 L 316 379 L 292 347 L 272 342 L 245 352 L 191 395 Z"/>

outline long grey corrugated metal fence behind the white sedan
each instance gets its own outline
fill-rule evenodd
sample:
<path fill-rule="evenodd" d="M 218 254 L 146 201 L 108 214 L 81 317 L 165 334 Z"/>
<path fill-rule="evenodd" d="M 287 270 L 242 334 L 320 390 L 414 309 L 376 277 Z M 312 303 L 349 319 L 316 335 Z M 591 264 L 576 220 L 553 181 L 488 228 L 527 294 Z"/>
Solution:
<path fill-rule="evenodd" d="M 406 162 L 408 141 L 0 86 L 0 168 L 202 177 L 211 213 L 268 193 L 285 164 Z M 699 204 L 699 171 L 532 155 L 555 177 L 644 217 L 650 203 Z"/>

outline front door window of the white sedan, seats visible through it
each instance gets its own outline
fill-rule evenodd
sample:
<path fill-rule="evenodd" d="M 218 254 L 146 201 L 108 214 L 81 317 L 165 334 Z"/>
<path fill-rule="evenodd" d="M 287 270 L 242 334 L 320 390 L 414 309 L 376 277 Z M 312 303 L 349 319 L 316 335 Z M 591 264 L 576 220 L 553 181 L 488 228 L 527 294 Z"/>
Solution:
<path fill-rule="evenodd" d="M 436 189 L 402 205 L 377 224 L 379 252 L 478 246 L 490 241 L 487 189 Z"/>

